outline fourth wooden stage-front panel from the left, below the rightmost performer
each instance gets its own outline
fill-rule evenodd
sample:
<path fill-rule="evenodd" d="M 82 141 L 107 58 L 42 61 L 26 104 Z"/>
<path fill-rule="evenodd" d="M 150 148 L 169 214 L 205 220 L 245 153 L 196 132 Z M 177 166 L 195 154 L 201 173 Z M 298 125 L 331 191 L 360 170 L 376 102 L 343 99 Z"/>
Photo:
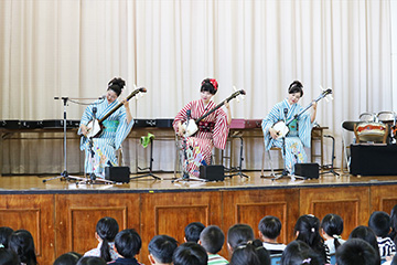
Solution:
<path fill-rule="evenodd" d="M 224 230 L 236 223 L 249 224 L 258 236 L 259 221 L 266 215 L 280 219 L 282 229 L 279 242 L 292 241 L 293 224 L 299 213 L 299 190 L 223 191 Z M 227 218 L 226 218 L 227 216 Z"/>

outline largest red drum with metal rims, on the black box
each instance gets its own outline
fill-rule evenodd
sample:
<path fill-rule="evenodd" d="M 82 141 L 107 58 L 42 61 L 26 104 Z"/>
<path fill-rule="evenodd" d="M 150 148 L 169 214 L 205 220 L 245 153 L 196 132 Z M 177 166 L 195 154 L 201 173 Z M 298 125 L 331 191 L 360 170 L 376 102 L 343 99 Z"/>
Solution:
<path fill-rule="evenodd" d="M 361 123 L 354 128 L 358 141 L 385 141 L 387 126 L 379 123 Z"/>

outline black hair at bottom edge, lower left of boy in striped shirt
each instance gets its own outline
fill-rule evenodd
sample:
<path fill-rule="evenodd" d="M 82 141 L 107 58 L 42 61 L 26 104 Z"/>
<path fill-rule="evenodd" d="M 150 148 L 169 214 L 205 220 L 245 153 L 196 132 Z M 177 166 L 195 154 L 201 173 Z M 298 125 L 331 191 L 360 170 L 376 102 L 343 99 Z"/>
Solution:
<path fill-rule="evenodd" d="M 260 240 L 238 245 L 232 254 L 232 265 L 270 265 L 269 252 Z"/>

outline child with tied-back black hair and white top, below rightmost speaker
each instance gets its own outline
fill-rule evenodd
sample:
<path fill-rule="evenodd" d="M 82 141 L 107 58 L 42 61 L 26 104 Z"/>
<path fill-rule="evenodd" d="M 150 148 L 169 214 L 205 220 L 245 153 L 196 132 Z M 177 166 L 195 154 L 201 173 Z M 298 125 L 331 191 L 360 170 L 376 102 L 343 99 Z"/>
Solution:
<path fill-rule="evenodd" d="M 325 239 L 325 245 L 330 250 L 330 255 L 335 254 L 345 241 L 342 240 L 343 220 L 337 214 L 326 214 L 321 221 L 321 235 Z"/>

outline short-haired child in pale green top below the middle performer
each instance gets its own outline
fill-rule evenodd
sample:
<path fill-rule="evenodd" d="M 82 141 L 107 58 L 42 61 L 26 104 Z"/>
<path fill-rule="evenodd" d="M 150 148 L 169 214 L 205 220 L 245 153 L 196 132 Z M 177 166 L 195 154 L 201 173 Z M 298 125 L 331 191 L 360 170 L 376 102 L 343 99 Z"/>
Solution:
<path fill-rule="evenodd" d="M 225 234 L 216 225 L 205 227 L 200 234 L 198 243 L 205 248 L 208 255 L 208 265 L 228 264 L 228 261 L 217 253 L 225 243 Z"/>

